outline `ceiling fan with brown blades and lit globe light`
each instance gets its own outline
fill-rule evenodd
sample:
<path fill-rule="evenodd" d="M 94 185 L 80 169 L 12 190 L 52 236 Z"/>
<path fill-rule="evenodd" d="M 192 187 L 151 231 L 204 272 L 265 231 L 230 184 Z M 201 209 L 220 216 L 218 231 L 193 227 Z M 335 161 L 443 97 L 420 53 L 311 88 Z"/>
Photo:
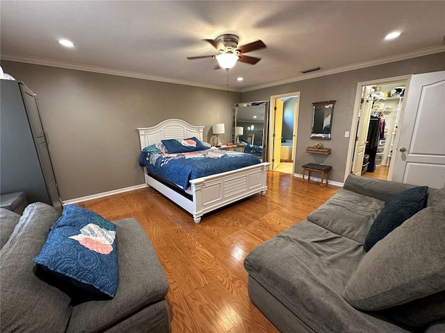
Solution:
<path fill-rule="evenodd" d="M 239 37 L 231 33 L 219 35 L 215 40 L 207 40 L 207 42 L 212 44 L 212 46 L 218 50 L 218 54 L 212 56 L 187 57 L 187 59 L 216 58 L 219 66 L 227 70 L 234 67 L 237 61 L 255 65 L 261 60 L 261 58 L 245 56 L 244 53 L 265 49 L 266 44 L 264 44 L 264 42 L 257 40 L 256 42 L 238 46 L 238 41 Z"/>

